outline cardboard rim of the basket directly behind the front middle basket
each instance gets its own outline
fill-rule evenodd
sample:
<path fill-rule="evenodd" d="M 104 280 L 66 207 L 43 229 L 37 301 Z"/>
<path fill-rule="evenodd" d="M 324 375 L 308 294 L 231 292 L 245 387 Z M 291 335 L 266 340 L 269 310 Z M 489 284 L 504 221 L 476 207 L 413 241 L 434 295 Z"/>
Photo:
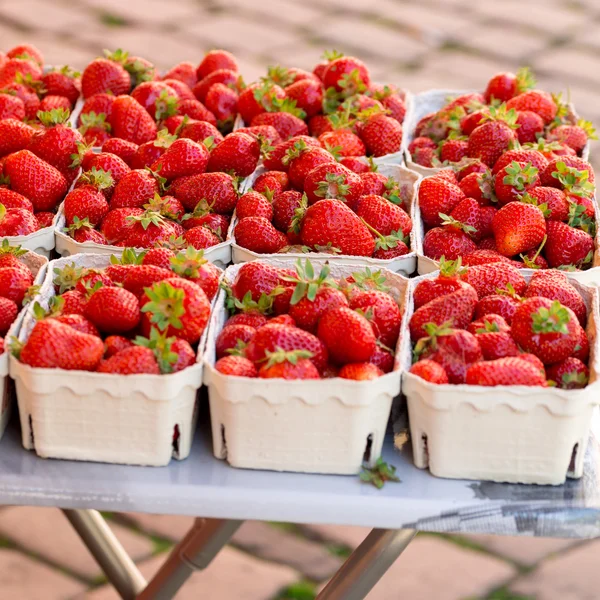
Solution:
<path fill-rule="evenodd" d="M 242 193 L 247 192 L 252 188 L 252 185 L 256 178 L 264 173 L 264 169 L 259 167 L 256 172 L 249 177 L 246 182 L 244 188 L 242 188 Z M 277 254 L 259 254 L 258 252 L 253 252 L 252 250 L 248 250 L 246 248 L 242 248 L 235 241 L 235 235 L 233 235 L 233 229 L 235 229 L 235 225 L 237 225 L 237 217 L 235 213 L 233 214 L 233 219 L 231 221 L 232 225 L 232 233 L 231 233 L 231 258 L 234 264 L 241 262 L 250 262 L 252 260 L 257 259 L 278 259 L 281 257 L 293 258 L 294 260 L 298 258 L 309 258 L 311 261 L 320 260 L 325 261 L 328 260 L 330 262 L 342 261 L 345 264 L 354 265 L 355 268 L 361 267 L 370 267 L 374 269 L 389 269 L 395 273 L 401 273 L 402 275 L 411 275 L 415 272 L 417 268 L 417 254 L 415 252 L 416 248 L 416 233 L 414 230 L 414 218 L 413 212 L 414 207 L 417 202 L 417 190 L 418 183 L 421 180 L 420 175 L 417 173 L 413 173 L 406 167 L 401 165 L 382 165 L 379 167 L 379 172 L 387 175 L 388 177 L 394 177 L 396 181 L 400 183 L 401 189 L 403 191 L 406 190 L 406 195 L 410 198 L 409 200 L 409 210 L 407 211 L 413 219 L 413 229 L 410 233 L 410 252 L 405 254 L 404 256 L 399 256 L 397 258 L 392 259 L 380 259 L 380 258 L 371 258 L 367 256 L 348 256 L 344 254 L 326 254 L 324 252 L 289 252 L 289 253 L 277 253 Z"/>

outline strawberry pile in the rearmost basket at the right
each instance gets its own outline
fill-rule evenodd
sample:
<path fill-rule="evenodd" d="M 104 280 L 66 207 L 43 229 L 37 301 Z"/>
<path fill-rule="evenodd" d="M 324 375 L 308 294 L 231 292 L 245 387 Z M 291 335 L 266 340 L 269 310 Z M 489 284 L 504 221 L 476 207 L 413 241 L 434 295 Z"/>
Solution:
<path fill-rule="evenodd" d="M 547 158 L 581 156 L 588 140 L 596 139 L 591 123 L 576 121 L 560 95 L 534 88 L 524 68 L 494 75 L 483 94 L 451 99 L 417 124 L 408 147 L 413 161 L 455 168 L 477 161 L 492 168 L 503 152 L 521 146 Z"/>

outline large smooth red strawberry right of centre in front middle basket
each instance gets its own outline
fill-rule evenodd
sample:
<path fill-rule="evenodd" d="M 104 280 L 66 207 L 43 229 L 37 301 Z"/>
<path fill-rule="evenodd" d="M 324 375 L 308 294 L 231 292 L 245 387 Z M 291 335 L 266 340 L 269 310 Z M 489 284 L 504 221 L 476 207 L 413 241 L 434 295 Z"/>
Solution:
<path fill-rule="evenodd" d="M 358 312 L 333 308 L 318 324 L 318 337 L 336 364 L 367 362 L 375 350 L 376 338 L 369 321 Z"/>

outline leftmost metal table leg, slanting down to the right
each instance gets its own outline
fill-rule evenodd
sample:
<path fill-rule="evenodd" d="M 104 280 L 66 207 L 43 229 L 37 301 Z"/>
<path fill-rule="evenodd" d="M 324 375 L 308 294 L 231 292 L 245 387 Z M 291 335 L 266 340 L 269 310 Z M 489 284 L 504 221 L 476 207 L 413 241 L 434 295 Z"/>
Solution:
<path fill-rule="evenodd" d="M 63 509 L 63 513 L 88 547 L 123 600 L 134 600 L 146 580 L 96 510 Z"/>

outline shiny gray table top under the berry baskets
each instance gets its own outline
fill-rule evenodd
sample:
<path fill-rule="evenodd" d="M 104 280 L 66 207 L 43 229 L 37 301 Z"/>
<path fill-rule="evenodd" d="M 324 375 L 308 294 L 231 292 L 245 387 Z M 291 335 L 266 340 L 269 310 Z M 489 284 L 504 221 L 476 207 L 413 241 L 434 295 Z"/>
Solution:
<path fill-rule="evenodd" d="M 438 532 L 600 535 L 596 434 L 584 477 L 556 487 L 437 479 L 415 468 L 410 453 L 397 452 L 389 439 L 384 460 L 397 467 L 401 483 L 377 490 L 356 476 L 234 469 L 213 457 L 207 429 L 197 431 L 188 459 L 168 467 L 42 459 L 22 448 L 15 421 L 0 442 L 0 504 Z"/>

